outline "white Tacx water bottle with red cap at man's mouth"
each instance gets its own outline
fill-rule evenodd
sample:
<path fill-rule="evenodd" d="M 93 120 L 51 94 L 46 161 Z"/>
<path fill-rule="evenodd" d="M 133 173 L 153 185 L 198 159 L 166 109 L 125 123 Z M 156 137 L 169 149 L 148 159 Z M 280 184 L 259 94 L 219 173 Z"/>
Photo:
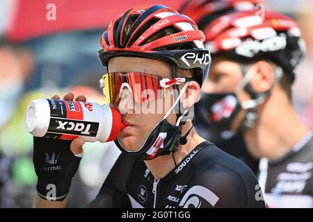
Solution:
<path fill-rule="evenodd" d="M 124 127 L 120 112 L 109 105 L 35 99 L 26 109 L 26 130 L 35 137 L 109 142 Z"/>

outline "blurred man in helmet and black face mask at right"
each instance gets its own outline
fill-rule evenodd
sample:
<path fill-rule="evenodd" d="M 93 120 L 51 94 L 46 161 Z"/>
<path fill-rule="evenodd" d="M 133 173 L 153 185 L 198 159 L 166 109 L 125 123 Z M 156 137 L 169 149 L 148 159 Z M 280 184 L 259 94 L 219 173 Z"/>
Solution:
<path fill-rule="evenodd" d="M 313 139 L 291 103 L 305 54 L 298 24 L 278 12 L 235 12 L 204 29 L 212 60 L 199 105 L 211 126 L 243 135 L 260 161 L 270 207 L 313 207 Z"/>

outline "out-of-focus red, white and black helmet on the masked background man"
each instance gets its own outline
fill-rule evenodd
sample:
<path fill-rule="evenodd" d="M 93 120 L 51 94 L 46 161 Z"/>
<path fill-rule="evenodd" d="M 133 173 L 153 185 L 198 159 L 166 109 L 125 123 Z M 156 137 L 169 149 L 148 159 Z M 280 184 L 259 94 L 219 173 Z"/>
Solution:
<path fill-rule="evenodd" d="M 270 60 L 284 69 L 291 81 L 294 69 L 305 55 L 305 43 L 298 24 L 278 12 L 249 10 L 234 12 L 214 20 L 204 29 L 205 47 L 248 63 Z"/>

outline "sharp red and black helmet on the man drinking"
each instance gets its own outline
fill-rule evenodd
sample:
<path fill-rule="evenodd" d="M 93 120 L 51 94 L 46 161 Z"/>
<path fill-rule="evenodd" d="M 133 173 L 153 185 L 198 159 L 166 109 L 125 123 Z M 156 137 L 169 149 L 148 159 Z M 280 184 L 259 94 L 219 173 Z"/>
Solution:
<path fill-rule="evenodd" d="M 99 59 L 108 66 L 113 56 L 135 56 L 170 62 L 193 69 L 202 85 L 207 78 L 211 56 L 204 49 L 204 34 L 186 15 L 161 5 L 137 6 L 118 16 L 104 31 Z"/>

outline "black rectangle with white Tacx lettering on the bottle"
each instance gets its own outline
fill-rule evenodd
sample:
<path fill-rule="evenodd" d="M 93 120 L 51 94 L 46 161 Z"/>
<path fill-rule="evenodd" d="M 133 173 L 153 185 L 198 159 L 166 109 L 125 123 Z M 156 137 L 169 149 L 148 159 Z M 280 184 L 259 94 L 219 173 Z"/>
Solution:
<path fill-rule="evenodd" d="M 99 123 L 96 122 L 51 118 L 48 132 L 95 137 L 97 135 L 98 128 Z"/>

